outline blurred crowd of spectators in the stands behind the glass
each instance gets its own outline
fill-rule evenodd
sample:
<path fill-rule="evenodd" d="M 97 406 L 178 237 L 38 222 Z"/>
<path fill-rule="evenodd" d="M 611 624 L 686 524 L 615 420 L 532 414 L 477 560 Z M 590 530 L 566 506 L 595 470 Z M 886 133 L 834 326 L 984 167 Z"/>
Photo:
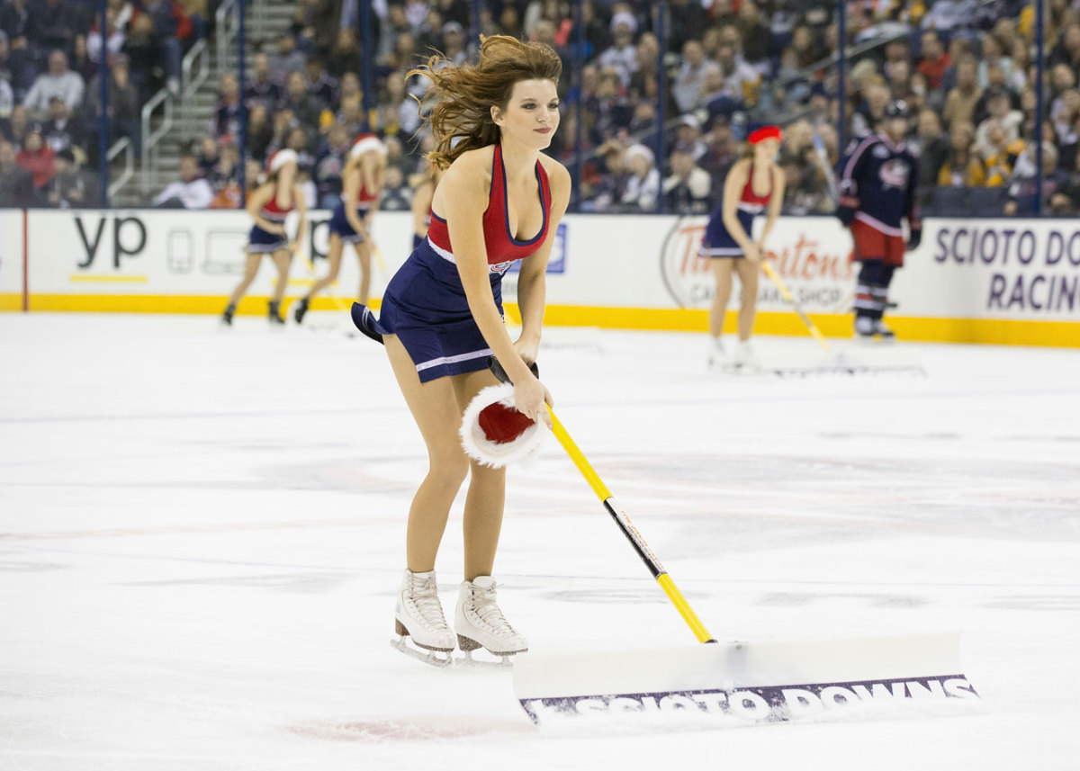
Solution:
<path fill-rule="evenodd" d="M 94 159 L 99 64 L 109 65 L 110 132 L 137 140 L 141 100 L 175 87 L 185 48 L 213 33 L 206 0 L 108 0 L 103 52 L 96 6 L 0 0 L 0 205 L 92 202 L 93 186 L 70 179 Z M 549 43 L 564 60 L 550 152 L 578 174 L 580 211 L 707 212 L 748 131 L 779 122 L 785 211 L 831 212 L 828 176 L 846 147 L 903 99 L 924 212 L 1024 214 L 1040 194 L 1053 213 L 1080 212 L 1080 0 L 1047 0 L 1039 137 L 1031 2 L 848 1 L 842 94 L 832 59 L 839 8 L 667 0 L 661 19 L 649 0 L 583 0 L 579 21 L 576 0 L 483 0 L 477 18 L 473 0 L 298 0 L 286 29 L 256 41 L 245 82 L 220 78 L 206 135 L 185 148 L 180 179 L 157 204 L 241 205 L 243 145 L 248 187 L 287 147 L 309 203 L 330 206 L 353 139 L 375 132 L 388 147 L 382 206 L 407 208 L 431 141 L 417 100 L 428 83 L 409 70 L 432 50 L 470 60 L 477 33 L 505 33 Z"/>

